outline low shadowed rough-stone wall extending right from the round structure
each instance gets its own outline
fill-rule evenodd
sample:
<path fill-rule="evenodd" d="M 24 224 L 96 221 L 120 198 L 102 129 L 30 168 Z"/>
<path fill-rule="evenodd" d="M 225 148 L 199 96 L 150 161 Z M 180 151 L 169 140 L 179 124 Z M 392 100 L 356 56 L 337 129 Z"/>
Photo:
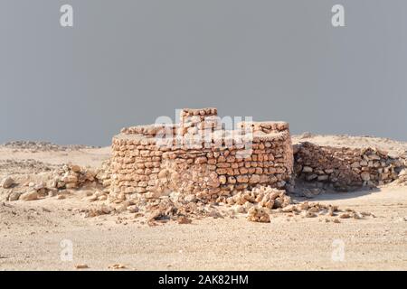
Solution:
<path fill-rule="evenodd" d="M 294 145 L 296 182 L 312 182 L 336 191 L 375 187 L 398 178 L 400 159 L 377 148 Z"/>

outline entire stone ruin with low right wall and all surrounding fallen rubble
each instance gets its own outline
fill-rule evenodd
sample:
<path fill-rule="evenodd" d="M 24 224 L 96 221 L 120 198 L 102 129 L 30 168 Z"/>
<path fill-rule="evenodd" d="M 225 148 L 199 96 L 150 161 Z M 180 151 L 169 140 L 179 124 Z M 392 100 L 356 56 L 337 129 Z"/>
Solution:
<path fill-rule="evenodd" d="M 407 184 L 403 156 L 371 147 L 291 145 L 285 122 L 223 125 L 215 108 L 183 109 L 177 124 L 123 128 L 113 137 L 110 159 L 96 171 L 68 164 L 52 172 L 49 182 L 28 183 L 26 192 L 15 191 L 11 177 L 0 186 L 10 201 L 64 199 L 71 191 L 85 190 L 85 200 L 103 202 L 84 210 L 86 217 L 127 210 L 135 218 L 147 213 L 147 223 L 154 225 L 168 219 L 187 224 L 188 218 L 234 218 L 237 213 L 260 222 L 270 222 L 275 212 L 338 217 L 326 219 L 333 222 L 364 219 L 373 215 L 298 203 L 287 191 L 308 197 L 302 192 Z"/>

